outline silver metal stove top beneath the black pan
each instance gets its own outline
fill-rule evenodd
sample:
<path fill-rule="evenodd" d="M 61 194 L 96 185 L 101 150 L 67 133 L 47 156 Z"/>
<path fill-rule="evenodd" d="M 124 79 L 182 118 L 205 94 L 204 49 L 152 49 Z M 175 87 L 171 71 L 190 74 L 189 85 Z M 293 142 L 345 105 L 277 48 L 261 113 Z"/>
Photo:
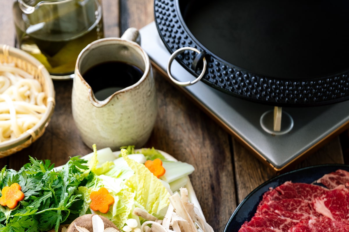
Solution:
<path fill-rule="evenodd" d="M 166 72 L 171 54 L 163 45 L 155 22 L 140 29 L 140 34 L 142 48 Z M 171 73 L 179 81 L 195 79 L 176 61 L 172 63 Z M 201 81 L 181 88 L 275 170 L 287 166 L 349 121 L 349 101 L 317 107 L 283 107 L 282 111 L 292 117 L 294 126 L 286 134 L 271 135 L 262 129 L 260 118 L 266 111 L 273 110 L 273 106 L 230 96 Z"/>

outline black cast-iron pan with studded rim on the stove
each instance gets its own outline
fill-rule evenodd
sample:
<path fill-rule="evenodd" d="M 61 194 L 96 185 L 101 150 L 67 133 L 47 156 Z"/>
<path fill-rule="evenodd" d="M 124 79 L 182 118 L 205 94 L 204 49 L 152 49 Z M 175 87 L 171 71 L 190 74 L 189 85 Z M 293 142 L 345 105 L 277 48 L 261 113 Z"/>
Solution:
<path fill-rule="evenodd" d="M 203 82 L 263 104 L 315 106 L 349 98 L 349 3 L 155 0 L 155 22 L 173 53 L 207 53 Z M 177 61 L 194 76 L 196 53 Z"/>

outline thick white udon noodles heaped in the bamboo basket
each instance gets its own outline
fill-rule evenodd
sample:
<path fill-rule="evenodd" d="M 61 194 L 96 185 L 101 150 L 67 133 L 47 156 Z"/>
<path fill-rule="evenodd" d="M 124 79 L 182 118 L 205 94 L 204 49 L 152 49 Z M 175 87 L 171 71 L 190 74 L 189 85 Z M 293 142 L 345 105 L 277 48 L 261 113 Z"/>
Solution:
<path fill-rule="evenodd" d="M 13 64 L 0 64 L 0 142 L 31 129 L 42 118 L 46 104 L 39 81 Z"/>

